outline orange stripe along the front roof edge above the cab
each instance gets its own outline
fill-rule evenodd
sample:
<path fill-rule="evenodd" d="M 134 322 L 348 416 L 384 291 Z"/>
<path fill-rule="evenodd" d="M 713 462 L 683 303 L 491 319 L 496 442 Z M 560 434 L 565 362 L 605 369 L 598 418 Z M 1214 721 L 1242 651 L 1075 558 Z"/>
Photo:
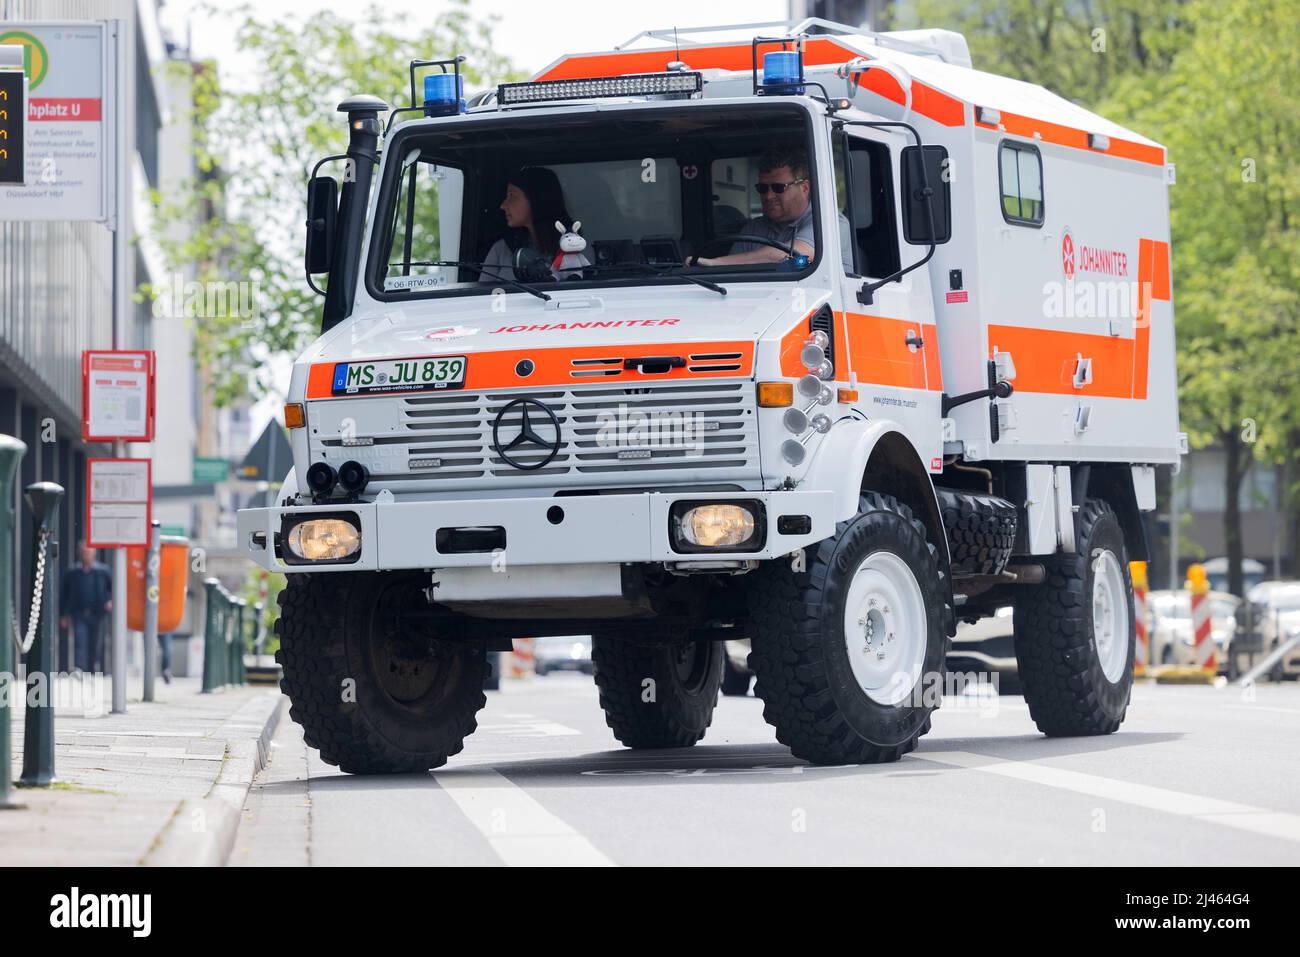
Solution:
<path fill-rule="evenodd" d="M 758 51 L 762 69 L 763 53 L 776 49 L 776 46 L 762 47 Z M 806 66 L 826 66 L 846 64 L 862 53 L 831 39 L 809 39 L 803 46 Z M 621 77 L 628 73 L 663 73 L 673 60 L 685 57 L 693 70 L 745 70 L 754 66 L 753 48 L 749 43 L 728 43 L 718 47 L 690 47 L 679 52 L 673 47 L 666 49 L 636 49 L 625 53 L 585 53 L 567 56 L 545 73 L 533 79 L 589 79 L 592 77 Z M 866 57 L 871 59 L 871 57 Z M 881 79 L 883 78 L 883 79 Z M 858 82 L 881 96 L 896 103 L 904 103 L 904 95 L 897 81 L 883 70 L 868 70 Z M 884 92 L 893 86 L 894 92 Z M 880 88 L 883 87 L 883 88 Z M 944 126 L 962 126 L 966 122 L 966 108 L 961 100 L 953 99 L 920 82 L 911 85 L 913 111 L 927 116 Z"/>

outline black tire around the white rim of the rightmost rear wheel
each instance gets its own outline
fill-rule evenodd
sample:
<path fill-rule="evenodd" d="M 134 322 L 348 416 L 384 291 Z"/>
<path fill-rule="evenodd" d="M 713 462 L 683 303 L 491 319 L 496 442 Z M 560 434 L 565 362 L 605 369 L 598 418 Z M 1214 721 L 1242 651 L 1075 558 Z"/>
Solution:
<path fill-rule="evenodd" d="M 1132 579 L 1119 519 L 1089 498 L 1075 516 L 1078 550 L 1050 557 L 1039 585 L 1017 589 L 1015 658 L 1030 716 L 1052 737 L 1109 735 L 1124 720 L 1136 644 Z M 1119 562 L 1128 599 L 1126 663 L 1118 681 L 1106 679 L 1092 624 L 1093 562 L 1100 549 Z"/>

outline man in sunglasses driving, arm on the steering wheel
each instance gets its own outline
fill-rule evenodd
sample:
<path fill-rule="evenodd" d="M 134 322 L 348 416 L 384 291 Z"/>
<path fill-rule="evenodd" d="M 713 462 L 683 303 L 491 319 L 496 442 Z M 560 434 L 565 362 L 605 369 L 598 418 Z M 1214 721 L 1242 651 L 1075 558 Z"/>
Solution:
<path fill-rule="evenodd" d="M 812 183 L 809 179 L 809 155 L 801 147 L 777 147 L 762 156 L 754 189 L 763 202 L 763 215 L 741 230 L 744 235 L 775 239 L 812 259 Z M 725 256 L 688 260 L 690 265 L 744 265 L 780 263 L 786 254 L 762 243 L 733 243 Z"/>

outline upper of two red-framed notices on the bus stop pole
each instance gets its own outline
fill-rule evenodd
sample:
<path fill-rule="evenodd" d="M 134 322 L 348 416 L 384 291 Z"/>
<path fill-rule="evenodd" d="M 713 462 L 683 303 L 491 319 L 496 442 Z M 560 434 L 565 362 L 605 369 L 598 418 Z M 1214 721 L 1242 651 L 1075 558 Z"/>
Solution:
<path fill-rule="evenodd" d="M 153 439 L 152 352 L 82 352 L 82 438 L 87 442 Z"/>

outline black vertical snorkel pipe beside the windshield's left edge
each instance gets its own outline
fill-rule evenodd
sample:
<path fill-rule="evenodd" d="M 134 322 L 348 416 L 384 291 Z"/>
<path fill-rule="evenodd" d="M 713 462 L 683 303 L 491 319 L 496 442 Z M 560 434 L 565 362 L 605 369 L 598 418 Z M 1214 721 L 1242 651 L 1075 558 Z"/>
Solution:
<path fill-rule="evenodd" d="M 347 173 L 338 200 L 338 242 L 334 263 L 329 270 L 329 289 L 325 290 L 325 308 L 321 312 L 321 332 L 326 332 L 352 315 L 356 298 L 356 277 L 361 269 L 361 239 L 365 231 L 365 211 L 370 204 L 370 179 L 378 161 L 376 147 L 384 133 L 380 113 L 389 104 L 378 96 L 350 96 L 338 104 L 339 113 L 347 113 Z"/>

